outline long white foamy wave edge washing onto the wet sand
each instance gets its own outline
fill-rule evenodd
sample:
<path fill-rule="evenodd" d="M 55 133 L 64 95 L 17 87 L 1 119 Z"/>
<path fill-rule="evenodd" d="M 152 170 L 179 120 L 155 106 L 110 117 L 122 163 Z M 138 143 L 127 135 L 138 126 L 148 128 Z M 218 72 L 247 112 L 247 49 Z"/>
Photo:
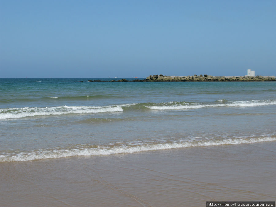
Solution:
<path fill-rule="evenodd" d="M 259 137 L 249 139 L 224 139 L 224 140 L 206 140 L 206 141 L 179 141 L 174 143 L 156 143 L 156 144 L 122 144 L 116 147 L 97 147 L 97 148 L 79 148 L 79 149 L 64 149 L 64 150 L 49 150 L 49 151 L 32 151 L 21 152 L 18 154 L 0 155 L 0 162 L 11 161 L 30 161 L 39 159 L 63 158 L 71 156 L 91 156 L 91 155 L 113 155 L 121 153 L 135 153 L 141 151 L 164 150 L 175 148 L 215 146 L 224 144 L 245 144 L 276 141 L 275 137 Z"/>

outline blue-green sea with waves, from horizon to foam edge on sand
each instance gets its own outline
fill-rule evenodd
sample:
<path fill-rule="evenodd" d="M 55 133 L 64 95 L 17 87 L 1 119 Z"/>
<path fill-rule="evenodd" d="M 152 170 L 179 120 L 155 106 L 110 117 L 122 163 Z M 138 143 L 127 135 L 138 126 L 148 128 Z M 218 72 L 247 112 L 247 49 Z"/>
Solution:
<path fill-rule="evenodd" d="M 88 80 L 0 79 L 0 161 L 276 140 L 275 82 Z"/>

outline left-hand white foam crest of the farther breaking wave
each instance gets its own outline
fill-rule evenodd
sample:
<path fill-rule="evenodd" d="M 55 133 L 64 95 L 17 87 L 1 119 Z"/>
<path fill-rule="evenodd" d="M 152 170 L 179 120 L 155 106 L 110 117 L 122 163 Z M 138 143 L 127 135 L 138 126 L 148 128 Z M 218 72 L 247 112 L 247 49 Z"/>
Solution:
<path fill-rule="evenodd" d="M 12 119 L 22 117 L 44 116 L 44 115 L 62 115 L 62 114 L 83 114 L 83 113 L 103 113 L 103 112 L 122 112 L 121 106 L 55 106 L 55 107 L 24 107 L 0 109 L 1 119 Z"/>

